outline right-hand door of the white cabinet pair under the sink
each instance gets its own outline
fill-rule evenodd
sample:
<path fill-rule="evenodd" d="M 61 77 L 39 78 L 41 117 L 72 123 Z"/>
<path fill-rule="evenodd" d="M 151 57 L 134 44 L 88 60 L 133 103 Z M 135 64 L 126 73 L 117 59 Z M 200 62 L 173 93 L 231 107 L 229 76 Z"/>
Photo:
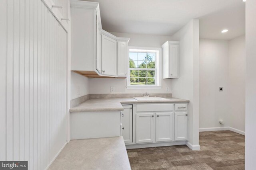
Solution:
<path fill-rule="evenodd" d="M 156 113 L 156 142 L 174 141 L 174 114 Z"/>

